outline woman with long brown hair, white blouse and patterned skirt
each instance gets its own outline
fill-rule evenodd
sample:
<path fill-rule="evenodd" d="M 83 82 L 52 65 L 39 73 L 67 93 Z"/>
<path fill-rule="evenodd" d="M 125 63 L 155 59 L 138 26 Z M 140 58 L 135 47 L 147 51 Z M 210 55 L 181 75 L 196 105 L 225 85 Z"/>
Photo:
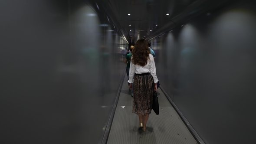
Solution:
<path fill-rule="evenodd" d="M 153 92 L 157 91 L 158 82 L 154 57 L 150 54 L 146 39 L 139 39 L 132 51 L 128 82 L 129 88 L 133 89 L 132 112 L 139 116 L 139 129 L 146 131 Z"/>

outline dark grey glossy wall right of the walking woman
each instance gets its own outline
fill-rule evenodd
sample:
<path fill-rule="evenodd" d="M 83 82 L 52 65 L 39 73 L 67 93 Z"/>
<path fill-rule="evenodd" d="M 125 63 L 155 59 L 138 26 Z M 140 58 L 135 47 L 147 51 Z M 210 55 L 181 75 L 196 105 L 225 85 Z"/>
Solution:
<path fill-rule="evenodd" d="M 256 3 L 203 14 L 151 39 L 161 86 L 206 144 L 254 144 Z"/>

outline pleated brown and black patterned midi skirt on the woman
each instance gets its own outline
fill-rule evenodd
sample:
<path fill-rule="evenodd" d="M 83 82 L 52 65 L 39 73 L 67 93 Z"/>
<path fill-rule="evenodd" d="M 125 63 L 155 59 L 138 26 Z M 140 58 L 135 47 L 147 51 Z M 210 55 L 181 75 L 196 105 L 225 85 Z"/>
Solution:
<path fill-rule="evenodd" d="M 132 112 L 149 115 L 152 110 L 154 79 L 150 73 L 135 74 L 133 80 Z"/>

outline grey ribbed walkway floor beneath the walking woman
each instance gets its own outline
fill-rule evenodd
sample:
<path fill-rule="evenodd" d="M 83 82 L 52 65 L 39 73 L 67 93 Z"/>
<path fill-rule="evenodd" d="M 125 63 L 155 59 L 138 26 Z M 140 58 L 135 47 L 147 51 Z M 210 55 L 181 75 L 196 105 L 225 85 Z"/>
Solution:
<path fill-rule="evenodd" d="M 197 144 L 160 88 L 157 91 L 159 115 L 152 110 L 147 130 L 138 130 L 138 115 L 131 112 L 132 97 L 127 81 L 126 76 L 107 144 Z"/>

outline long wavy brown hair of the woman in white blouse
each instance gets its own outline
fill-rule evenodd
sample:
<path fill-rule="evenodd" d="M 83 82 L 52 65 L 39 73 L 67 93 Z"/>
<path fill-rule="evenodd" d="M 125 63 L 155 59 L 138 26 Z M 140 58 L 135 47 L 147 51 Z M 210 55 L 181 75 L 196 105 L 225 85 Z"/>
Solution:
<path fill-rule="evenodd" d="M 146 39 L 139 39 L 132 50 L 131 62 L 135 65 L 145 66 L 148 63 L 150 49 Z"/>

